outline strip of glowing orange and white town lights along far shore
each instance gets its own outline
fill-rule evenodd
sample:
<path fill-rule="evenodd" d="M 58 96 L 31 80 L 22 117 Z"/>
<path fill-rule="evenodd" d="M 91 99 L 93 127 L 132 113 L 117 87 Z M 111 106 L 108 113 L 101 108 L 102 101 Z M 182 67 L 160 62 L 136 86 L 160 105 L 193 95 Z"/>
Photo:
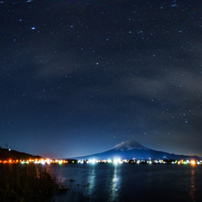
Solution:
<path fill-rule="evenodd" d="M 108 160 L 96 160 L 96 159 L 89 159 L 89 160 L 76 160 L 76 159 L 49 159 L 49 158 L 40 158 L 40 159 L 8 159 L 8 160 L 0 160 L 1 164 L 42 164 L 42 165 L 50 165 L 50 164 L 173 164 L 173 165 L 201 165 L 202 160 L 127 160 L 127 159 L 108 159 Z"/>

